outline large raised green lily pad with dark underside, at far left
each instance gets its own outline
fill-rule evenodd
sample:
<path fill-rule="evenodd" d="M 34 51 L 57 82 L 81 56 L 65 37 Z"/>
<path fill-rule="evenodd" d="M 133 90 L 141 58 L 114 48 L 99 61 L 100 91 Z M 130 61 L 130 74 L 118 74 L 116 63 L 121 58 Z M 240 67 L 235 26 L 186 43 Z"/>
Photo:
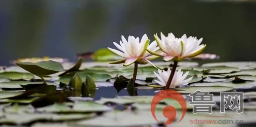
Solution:
<path fill-rule="evenodd" d="M 52 60 L 49 61 L 42 61 L 42 62 L 21 62 L 16 63 L 16 65 L 20 66 L 21 68 L 29 71 L 30 73 L 37 75 L 37 76 L 45 76 L 57 73 L 59 71 L 63 71 L 63 67 L 59 62 L 55 62 Z"/>

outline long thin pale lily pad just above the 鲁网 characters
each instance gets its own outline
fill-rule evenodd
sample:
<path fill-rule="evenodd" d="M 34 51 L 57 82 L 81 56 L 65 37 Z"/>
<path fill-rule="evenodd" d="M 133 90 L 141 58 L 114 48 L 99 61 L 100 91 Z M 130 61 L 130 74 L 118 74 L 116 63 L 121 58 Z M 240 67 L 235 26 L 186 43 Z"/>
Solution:
<path fill-rule="evenodd" d="M 211 87 L 184 87 L 184 88 L 174 88 L 178 90 L 179 93 L 194 93 L 197 90 L 209 91 L 210 93 L 219 93 L 225 91 L 234 90 L 232 87 L 223 87 L 223 86 L 211 86 Z"/>

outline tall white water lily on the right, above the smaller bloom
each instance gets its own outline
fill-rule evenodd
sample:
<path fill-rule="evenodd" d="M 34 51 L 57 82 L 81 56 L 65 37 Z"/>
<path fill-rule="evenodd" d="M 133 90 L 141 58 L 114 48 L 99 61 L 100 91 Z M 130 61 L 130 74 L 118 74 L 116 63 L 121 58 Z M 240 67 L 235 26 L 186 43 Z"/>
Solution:
<path fill-rule="evenodd" d="M 150 51 L 150 49 L 147 49 L 147 51 L 153 55 L 162 56 L 164 61 L 173 60 L 179 62 L 184 58 L 191 58 L 199 55 L 206 47 L 205 44 L 200 45 L 203 38 L 198 40 L 197 37 L 187 37 L 186 34 L 181 38 L 176 38 L 172 33 L 169 33 L 168 36 L 165 37 L 161 32 L 161 40 L 157 34 L 155 34 L 154 37 L 158 46 L 162 50 L 162 53 L 156 53 L 154 51 Z"/>

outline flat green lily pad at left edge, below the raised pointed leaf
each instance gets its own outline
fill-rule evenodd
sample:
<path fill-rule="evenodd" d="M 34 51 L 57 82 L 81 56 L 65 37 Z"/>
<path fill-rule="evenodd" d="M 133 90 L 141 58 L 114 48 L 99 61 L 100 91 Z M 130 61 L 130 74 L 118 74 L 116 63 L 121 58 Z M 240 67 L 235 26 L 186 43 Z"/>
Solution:
<path fill-rule="evenodd" d="M 34 78 L 34 75 L 31 73 L 21 73 L 21 72 L 14 72 L 14 71 L 9 71 L 9 72 L 2 72 L 0 73 L 0 77 L 7 77 L 12 80 L 30 80 Z"/>

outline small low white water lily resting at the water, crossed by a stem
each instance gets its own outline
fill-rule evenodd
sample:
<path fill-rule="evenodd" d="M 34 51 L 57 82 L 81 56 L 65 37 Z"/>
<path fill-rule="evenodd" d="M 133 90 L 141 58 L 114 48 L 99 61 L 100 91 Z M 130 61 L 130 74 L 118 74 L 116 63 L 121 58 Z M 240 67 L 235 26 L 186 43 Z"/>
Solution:
<path fill-rule="evenodd" d="M 156 72 L 154 72 L 154 73 L 157 77 L 157 80 L 154 80 L 154 81 L 156 81 L 156 83 L 161 85 L 161 86 L 166 86 L 168 78 L 171 74 L 171 69 L 169 68 L 167 71 L 161 71 L 161 70 L 158 69 L 158 74 Z M 185 72 L 185 74 L 183 74 L 181 69 L 176 71 L 174 73 L 173 78 L 172 78 L 170 88 L 175 88 L 175 87 L 178 87 L 180 85 L 188 84 L 188 82 L 191 81 L 192 78 L 193 78 L 193 77 L 190 77 L 190 78 L 186 79 L 188 73 L 189 73 L 189 71 L 187 71 L 187 72 Z"/>

